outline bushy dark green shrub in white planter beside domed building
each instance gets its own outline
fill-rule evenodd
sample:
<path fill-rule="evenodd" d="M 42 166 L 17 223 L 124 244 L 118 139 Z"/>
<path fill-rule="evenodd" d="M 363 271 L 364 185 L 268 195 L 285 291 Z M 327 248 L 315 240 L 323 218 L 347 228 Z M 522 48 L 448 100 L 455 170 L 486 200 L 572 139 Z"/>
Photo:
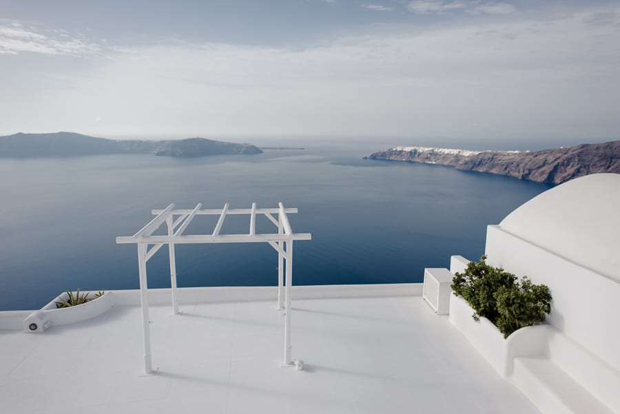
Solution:
<path fill-rule="evenodd" d="M 486 256 L 469 262 L 463 273 L 455 273 L 451 287 L 474 309 L 474 320 L 484 316 L 504 338 L 521 327 L 543 323 L 551 311 L 548 287 L 532 284 L 526 277 L 519 284 L 513 273 L 487 265 Z"/>

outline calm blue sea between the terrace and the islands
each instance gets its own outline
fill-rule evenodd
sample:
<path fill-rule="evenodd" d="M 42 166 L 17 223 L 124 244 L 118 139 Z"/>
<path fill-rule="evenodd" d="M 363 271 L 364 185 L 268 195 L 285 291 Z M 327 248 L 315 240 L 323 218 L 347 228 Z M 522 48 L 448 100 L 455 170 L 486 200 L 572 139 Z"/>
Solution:
<path fill-rule="evenodd" d="M 270 143 L 268 143 L 270 144 Z M 478 258 L 486 225 L 550 186 L 448 167 L 363 161 L 385 143 L 306 145 L 258 156 L 156 156 L 0 160 L 0 310 L 39 309 L 61 291 L 136 289 L 134 234 L 151 209 L 298 207 L 295 284 L 420 282 L 450 256 Z M 228 217 L 223 233 L 247 232 Z M 210 233 L 200 216 L 187 234 Z M 257 231 L 270 230 L 266 218 Z M 178 284 L 273 285 L 268 245 L 178 245 Z M 169 287 L 167 249 L 148 264 L 149 287 Z"/>

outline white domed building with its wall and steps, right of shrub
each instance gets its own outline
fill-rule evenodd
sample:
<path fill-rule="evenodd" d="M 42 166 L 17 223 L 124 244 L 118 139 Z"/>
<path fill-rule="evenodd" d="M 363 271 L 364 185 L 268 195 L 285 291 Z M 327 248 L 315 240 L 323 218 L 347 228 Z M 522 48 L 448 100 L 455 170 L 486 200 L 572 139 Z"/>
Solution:
<path fill-rule="evenodd" d="M 553 297 L 544 349 L 515 358 L 513 379 L 544 413 L 620 413 L 619 206 L 620 175 L 595 174 L 488 226 L 488 263 Z"/>

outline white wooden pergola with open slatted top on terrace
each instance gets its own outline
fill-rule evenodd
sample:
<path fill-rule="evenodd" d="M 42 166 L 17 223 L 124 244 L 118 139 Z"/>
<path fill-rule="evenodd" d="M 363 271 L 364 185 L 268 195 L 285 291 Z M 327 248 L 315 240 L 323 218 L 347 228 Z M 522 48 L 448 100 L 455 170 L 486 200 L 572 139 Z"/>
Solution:
<path fill-rule="evenodd" d="M 193 210 L 174 209 L 174 204 L 163 210 L 153 210 L 156 215 L 147 225 L 133 236 L 116 238 L 116 243 L 135 243 L 138 246 L 138 272 L 140 274 L 140 298 L 142 304 L 142 329 L 144 335 L 144 370 L 152 373 L 151 335 L 149 329 L 149 301 L 147 295 L 147 268 L 146 264 L 163 245 L 168 245 L 170 258 L 170 278 L 172 284 L 172 310 L 178 313 L 178 299 L 176 296 L 176 262 L 174 259 L 174 245 L 200 243 L 257 243 L 267 242 L 278 252 L 278 304 L 277 309 L 285 310 L 285 348 L 282 366 L 293 366 L 291 360 L 291 285 L 293 284 L 293 240 L 311 240 L 309 233 L 293 233 L 287 214 L 297 213 L 296 208 L 285 208 L 278 203 L 278 208 L 258 209 L 252 203 L 250 209 L 229 209 L 228 203 L 223 209 L 202 209 L 198 203 Z M 226 216 L 234 214 L 249 215 L 249 232 L 247 234 L 220 234 Z M 256 234 L 256 215 L 264 214 L 278 228 L 277 233 Z M 277 214 L 278 218 L 273 215 Z M 189 223 L 198 215 L 220 216 L 216 227 L 211 234 L 184 235 Z M 167 235 L 153 233 L 166 222 Z M 286 260 L 286 281 L 283 275 L 283 261 Z M 284 298 L 282 291 L 285 291 Z"/>

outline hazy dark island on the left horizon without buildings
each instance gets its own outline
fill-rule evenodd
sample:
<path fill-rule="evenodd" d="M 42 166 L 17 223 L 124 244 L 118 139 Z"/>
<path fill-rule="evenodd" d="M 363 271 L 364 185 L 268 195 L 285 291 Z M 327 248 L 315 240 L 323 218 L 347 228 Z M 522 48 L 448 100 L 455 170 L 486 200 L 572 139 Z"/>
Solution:
<path fill-rule="evenodd" d="M 251 144 L 227 143 L 206 138 L 165 141 L 112 140 L 77 134 L 14 134 L 0 136 L 0 157 L 25 158 L 85 156 L 98 154 L 154 154 L 157 156 L 197 157 L 224 154 L 262 154 Z"/>

